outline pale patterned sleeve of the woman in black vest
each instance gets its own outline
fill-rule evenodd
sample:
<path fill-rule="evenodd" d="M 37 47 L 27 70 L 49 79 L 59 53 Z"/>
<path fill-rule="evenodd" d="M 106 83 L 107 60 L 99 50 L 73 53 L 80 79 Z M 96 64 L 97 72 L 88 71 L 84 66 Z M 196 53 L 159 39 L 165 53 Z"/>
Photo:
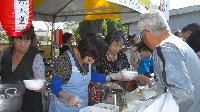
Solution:
<path fill-rule="evenodd" d="M 32 68 L 36 79 L 45 79 L 45 66 L 40 54 L 35 55 Z"/>

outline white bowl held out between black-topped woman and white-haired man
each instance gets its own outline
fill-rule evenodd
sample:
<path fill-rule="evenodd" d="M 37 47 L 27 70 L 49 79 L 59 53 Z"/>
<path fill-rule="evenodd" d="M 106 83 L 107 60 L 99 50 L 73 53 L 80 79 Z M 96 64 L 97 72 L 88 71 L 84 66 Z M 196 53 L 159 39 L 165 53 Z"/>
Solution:
<path fill-rule="evenodd" d="M 132 80 L 134 77 L 136 77 L 138 75 L 138 72 L 137 71 L 122 70 L 122 74 L 124 76 L 124 79 Z"/>

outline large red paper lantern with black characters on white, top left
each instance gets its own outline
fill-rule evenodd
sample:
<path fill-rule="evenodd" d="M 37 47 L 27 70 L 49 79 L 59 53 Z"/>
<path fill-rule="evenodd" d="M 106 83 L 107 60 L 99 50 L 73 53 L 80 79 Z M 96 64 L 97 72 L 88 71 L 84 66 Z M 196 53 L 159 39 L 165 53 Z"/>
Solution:
<path fill-rule="evenodd" d="M 0 0 L 0 22 L 8 36 L 21 36 L 32 24 L 32 0 Z"/>

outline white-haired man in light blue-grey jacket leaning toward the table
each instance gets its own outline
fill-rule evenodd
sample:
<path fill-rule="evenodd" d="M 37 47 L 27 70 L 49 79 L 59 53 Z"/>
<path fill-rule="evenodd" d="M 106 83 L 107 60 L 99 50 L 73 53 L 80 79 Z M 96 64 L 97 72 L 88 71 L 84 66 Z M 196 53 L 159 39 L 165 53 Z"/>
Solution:
<path fill-rule="evenodd" d="M 164 93 L 167 85 L 180 112 L 199 112 L 200 60 L 195 52 L 171 33 L 164 14 L 159 10 L 142 14 L 138 25 L 144 43 L 154 50 L 158 93 Z"/>

